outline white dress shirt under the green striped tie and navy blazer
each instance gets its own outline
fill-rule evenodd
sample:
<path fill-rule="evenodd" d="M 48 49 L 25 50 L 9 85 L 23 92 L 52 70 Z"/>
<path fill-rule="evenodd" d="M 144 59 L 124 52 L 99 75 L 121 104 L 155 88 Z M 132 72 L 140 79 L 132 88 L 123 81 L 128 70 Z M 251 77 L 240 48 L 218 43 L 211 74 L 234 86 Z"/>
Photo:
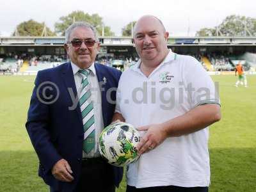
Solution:
<path fill-rule="evenodd" d="M 74 79 L 76 83 L 76 90 L 77 90 L 77 96 L 80 97 L 81 89 L 82 89 L 82 80 L 83 76 L 79 74 L 78 70 L 81 68 L 77 67 L 72 61 L 70 61 Z M 83 158 L 91 158 L 91 157 L 99 157 L 99 136 L 102 130 L 104 129 L 104 123 L 103 123 L 103 116 L 102 116 L 102 106 L 101 106 L 101 93 L 100 93 L 100 87 L 99 87 L 99 81 L 97 78 L 95 65 L 92 63 L 92 65 L 88 68 L 91 72 L 88 76 L 88 82 L 90 86 L 90 91 L 92 93 L 91 99 L 93 103 L 93 113 L 94 113 L 94 120 L 95 120 L 95 150 L 92 150 L 89 154 L 86 154 L 83 152 Z"/>

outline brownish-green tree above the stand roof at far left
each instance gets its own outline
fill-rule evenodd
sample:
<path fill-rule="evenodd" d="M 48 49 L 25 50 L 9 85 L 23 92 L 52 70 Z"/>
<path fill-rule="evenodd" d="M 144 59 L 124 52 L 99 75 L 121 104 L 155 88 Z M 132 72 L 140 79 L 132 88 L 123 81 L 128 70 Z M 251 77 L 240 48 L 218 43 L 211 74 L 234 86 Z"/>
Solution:
<path fill-rule="evenodd" d="M 36 22 L 35 20 L 31 19 L 28 21 L 21 22 L 17 25 L 17 31 L 19 32 L 19 36 L 41 36 L 44 30 L 44 22 Z M 45 26 L 46 27 L 46 26 Z M 16 31 L 15 29 L 15 31 Z M 51 29 L 47 28 L 47 36 L 54 36 L 56 35 Z M 12 35 L 15 35 L 15 31 Z"/>

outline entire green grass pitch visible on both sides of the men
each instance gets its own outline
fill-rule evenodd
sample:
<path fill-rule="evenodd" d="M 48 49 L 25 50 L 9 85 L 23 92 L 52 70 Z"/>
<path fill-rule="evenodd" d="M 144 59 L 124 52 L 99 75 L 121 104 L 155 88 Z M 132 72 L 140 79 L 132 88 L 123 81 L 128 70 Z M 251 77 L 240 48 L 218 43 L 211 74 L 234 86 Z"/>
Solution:
<path fill-rule="evenodd" d="M 235 76 L 220 83 L 222 120 L 210 128 L 210 191 L 256 191 L 256 76 L 248 88 Z M 24 127 L 35 77 L 0 76 L 0 191 L 49 191 Z M 125 191 L 123 180 L 118 192 Z"/>

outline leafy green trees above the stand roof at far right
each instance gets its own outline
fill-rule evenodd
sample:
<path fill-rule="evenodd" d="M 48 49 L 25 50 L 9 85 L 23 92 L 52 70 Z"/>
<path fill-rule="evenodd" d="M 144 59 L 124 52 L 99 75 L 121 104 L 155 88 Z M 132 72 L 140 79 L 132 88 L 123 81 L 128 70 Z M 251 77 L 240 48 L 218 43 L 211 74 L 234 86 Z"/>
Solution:
<path fill-rule="evenodd" d="M 215 28 L 202 28 L 196 32 L 196 35 L 214 36 L 217 34 L 217 28 L 224 36 L 255 36 L 256 19 L 239 15 L 229 15 L 219 26 Z"/>

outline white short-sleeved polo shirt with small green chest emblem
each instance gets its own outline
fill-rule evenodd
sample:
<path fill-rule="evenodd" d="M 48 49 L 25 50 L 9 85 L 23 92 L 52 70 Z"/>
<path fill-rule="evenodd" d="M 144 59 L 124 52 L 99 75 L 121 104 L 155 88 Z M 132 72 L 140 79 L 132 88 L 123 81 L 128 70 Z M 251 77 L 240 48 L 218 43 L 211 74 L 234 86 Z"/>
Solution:
<path fill-rule="evenodd" d="M 141 72 L 140 61 L 123 72 L 116 97 L 116 112 L 135 127 L 166 122 L 201 104 L 219 104 L 214 83 L 202 65 L 172 51 L 148 77 Z M 127 166 L 127 184 L 136 188 L 209 186 L 208 136 L 205 127 L 167 138 Z"/>

